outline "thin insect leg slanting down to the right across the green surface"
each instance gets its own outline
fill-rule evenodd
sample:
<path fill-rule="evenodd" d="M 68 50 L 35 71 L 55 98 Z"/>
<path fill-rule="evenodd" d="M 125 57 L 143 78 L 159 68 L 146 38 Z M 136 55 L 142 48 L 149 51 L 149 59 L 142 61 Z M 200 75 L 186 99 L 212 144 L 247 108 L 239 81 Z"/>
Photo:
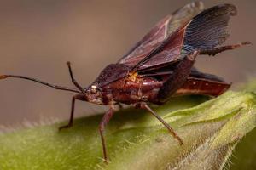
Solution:
<path fill-rule="evenodd" d="M 168 131 L 172 134 L 172 136 L 177 139 L 179 144 L 183 144 L 183 140 L 175 133 L 175 131 L 172 129 L 172 127 L 166 123 L 158 114 L 156 114 L 146 103 L 140 103 L 137 106 L 139 106 L 142 109 L 145 109 L 149 111 L 153 116 L 155 116 L 163 125 L 168 129 Z"/>

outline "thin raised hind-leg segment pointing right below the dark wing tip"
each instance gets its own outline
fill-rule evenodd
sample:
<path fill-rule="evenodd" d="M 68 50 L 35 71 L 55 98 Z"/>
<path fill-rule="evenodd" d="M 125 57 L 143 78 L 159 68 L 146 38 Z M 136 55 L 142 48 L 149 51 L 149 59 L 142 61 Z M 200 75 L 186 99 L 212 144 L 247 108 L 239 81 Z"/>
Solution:
<path fill-rule="evenodd" d="M 227 46 L 223 46 L 220 48 L 212 48 L 212 49 L 206 49 L 206 50 L 201 50 L 199 54 L 207 54 L 207 55 L 216 55 L 218 53 L 224 52 L 226 50 L 232 50 L 235 48 L 240 48 L 243 45 L 248 45 L 251 44 L 251 42 L 241 42 L 241 43 L 237 43 L 237 44 L 233 44 L 233 45 L 227 45 Z"/>

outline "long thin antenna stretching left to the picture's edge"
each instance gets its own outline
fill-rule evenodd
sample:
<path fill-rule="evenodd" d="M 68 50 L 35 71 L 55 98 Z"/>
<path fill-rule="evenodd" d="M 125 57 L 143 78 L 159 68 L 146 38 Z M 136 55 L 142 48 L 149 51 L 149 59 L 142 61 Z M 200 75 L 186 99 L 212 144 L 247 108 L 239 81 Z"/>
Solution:
<path fill-rule="evenodd" d="M 58 90 L 66 90 L 66 91 L 70 91 L 70 92 L 81 93 L 79 90 L 77 90 L 75 88 L 67 88 L 67 87 L 53 85 L 53 84 L 50 84 L 49 82 L 43 82 L 41 80 L 38 80 L 38 79 L 32 78 L 32 77 L 24 77 L 24 76 L 18 76 L 18 75 L 0 75 L 0 79 L 5 79 L 5 78 L 20 78 L 20 79 L 29 80 L 32 82 L 38 82 L 40 84 L 44 84 L 45 86 L 48 86 L 50 88 L 55 88 Z"/>

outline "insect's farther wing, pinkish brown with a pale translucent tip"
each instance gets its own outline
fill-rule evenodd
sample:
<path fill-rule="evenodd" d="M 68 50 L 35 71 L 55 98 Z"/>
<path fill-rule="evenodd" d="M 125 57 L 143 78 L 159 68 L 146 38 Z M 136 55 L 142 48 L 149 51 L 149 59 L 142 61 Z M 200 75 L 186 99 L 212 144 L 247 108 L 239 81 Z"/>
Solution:
<path fill-rule="evenodd" d="M 154 54 L 154 50 L 160 48 L 172 33 L 176 32 L 180 26 L 183 26 L 196 14 L 199 14 L 202 9 L 203 3 L 201 2 L 189 3 L 172 15 L 166 16 L 140 42 L 137 42 L 128 54 L 119 59 L 118 63 L 131 67 L 139 65 L 148 58 L 148 55 Z"/>

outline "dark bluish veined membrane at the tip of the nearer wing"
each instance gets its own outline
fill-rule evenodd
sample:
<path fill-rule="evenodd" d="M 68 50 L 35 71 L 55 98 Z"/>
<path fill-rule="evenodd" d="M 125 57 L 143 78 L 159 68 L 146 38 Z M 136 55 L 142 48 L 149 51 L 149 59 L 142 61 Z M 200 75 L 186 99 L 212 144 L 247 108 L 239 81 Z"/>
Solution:
<path fill-rule="evenodd" d="M 222 44 L 230 35 L 230 16 L 237 14 L 232 4 L 217 5 L 195 16 L 184 38 L 183 50 L 191 53 L 197 49 L 207 50 Z"/>

